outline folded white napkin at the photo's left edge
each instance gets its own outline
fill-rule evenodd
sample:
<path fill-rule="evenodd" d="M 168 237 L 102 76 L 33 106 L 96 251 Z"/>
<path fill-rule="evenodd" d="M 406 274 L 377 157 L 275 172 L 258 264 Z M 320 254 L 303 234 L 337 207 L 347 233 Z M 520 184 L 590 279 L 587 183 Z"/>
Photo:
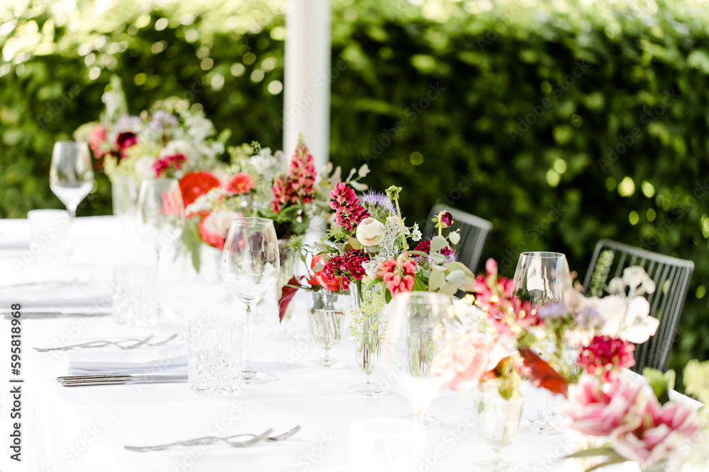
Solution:
<path fill-rule="evenodd" d="M 30 309 L 93 309 L 110 311 L 111 284 L 89 282 L 48 282 L 17 287 L 0 287 L 0 306 L 19 303 L 24 310 Z"/>

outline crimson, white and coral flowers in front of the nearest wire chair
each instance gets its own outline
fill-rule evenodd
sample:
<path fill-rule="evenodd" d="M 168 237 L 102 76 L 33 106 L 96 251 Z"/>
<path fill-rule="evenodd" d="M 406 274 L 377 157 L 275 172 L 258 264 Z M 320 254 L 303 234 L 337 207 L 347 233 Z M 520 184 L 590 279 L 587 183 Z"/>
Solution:
<path fill-rule="evenodd" d="M 627 267 L 608 289 L 610 295 L 599 298 L 574 288 L 563 303 L 532 309 L 513 297 L 511 281 L 499 277 L 495 261 L 488 260 L 486 275 L 476 277 L 475 295 L 467 301 L 486 313 L 493 332 L 514 339 L 532 384 L 566 395 L 581 372 L 611 381 L 620 369 L 635 365 L 635 344 L 657 330 L 659 321 L 649 316 L 644 298 L 654 283 L 642 267 Z"/>

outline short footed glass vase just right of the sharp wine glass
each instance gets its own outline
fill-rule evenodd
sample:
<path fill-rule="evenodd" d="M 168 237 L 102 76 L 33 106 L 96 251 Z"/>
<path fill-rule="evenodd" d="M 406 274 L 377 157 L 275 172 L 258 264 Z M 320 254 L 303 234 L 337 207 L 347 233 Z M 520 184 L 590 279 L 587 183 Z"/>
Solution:
<path fill-rule="evenodd" d="M 309 292 L 308 295 L 308 326 L 313 343 L 323 349 L 323 355 L 308 364 L 330 369 L 345 367 L 345 362 L 330 357 L 330 350 L 342 340 L 342 330 L 347 326 L 347 310 L 351 305 L 350 295 L 328 292 L 325 289 Z"/>

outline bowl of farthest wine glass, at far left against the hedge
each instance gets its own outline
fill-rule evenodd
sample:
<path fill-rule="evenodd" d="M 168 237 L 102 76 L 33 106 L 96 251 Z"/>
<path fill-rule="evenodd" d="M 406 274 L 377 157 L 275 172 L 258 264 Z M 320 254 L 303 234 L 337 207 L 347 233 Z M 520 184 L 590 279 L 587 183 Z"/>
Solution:
<path fill-rule="evenodd" d="M 77 207 L 94 188 L 89 145 L 80 141 L 57 141 L 52 151 L 49 187 L 69 210 L 72 221 Z"/>

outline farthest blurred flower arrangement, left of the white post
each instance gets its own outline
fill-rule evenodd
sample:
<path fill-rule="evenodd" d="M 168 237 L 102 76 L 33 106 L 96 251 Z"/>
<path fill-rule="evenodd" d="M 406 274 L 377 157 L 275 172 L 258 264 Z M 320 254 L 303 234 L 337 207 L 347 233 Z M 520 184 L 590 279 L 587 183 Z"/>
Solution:
<path fill-rule="evenodd" d="M 89 142 L 96 166 L 111 180 L 117 175 L 179 177 L 190 169 L 211 168 L 225 150 L 229 132 L 217 138 L 212 122 L 193 113 L 186 100 L 158 100 L 150 110 L 129 115 L 116 77 L 101 100 L 106 104 L 101 120 L 82 125 L 74 135 Z"/>

